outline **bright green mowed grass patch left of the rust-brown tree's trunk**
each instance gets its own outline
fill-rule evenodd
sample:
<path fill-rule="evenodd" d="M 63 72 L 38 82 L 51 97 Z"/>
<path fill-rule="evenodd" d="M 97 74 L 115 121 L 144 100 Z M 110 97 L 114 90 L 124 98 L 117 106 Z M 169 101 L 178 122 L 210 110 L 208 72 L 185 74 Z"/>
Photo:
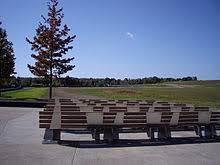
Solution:
<path fill-rule="evenodd" d="M 47 90 L 47 88 L 25 88 L 15 91 L 3 92 L 0 99 L 36 100 L 44 96 Z"/>

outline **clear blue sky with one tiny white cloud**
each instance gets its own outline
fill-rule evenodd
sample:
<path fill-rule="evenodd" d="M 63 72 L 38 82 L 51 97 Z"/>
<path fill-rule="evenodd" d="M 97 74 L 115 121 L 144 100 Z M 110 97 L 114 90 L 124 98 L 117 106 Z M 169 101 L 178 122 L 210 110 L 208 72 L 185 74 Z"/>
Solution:
<path fill-rule="evenodd" d="M 17 76 L 32 76 L 30 45 L 47 0 L 0 0 Z M 73 77 L 220 79 L 219 0 L 60 0 L 77 38 Z"/>

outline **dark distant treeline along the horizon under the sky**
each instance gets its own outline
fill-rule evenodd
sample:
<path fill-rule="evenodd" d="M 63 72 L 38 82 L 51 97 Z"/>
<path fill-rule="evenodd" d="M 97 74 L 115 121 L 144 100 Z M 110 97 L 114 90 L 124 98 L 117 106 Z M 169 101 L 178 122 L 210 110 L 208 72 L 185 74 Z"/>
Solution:
<path fill-rule="evenodd" d="M 197 77 L 183 77 L 183 78 L 159 78 L 159 77 L 146 77 L 138 79 L 125 78 L 54 78 L 53 86 L 62 87 L 108 87 L 108 86 L 127 86 L 127 85 L 140 85 L 140 84 L 156 84 L 162 82 L 172 81 L 196 81 Z M 13 77 L 10 86 L 34 87 L 34 86 L 48 86 L 49 80 L 45 78 L 32 78 L 32 77 Z"/>

